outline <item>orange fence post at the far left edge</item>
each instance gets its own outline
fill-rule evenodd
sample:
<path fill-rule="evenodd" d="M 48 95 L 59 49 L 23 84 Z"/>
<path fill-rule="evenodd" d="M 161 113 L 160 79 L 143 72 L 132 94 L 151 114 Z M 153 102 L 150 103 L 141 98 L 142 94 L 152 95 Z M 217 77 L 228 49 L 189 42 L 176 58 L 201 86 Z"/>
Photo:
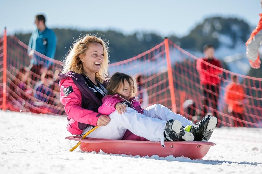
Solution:
<path fill-rule="evenodd" d="M 3 43 L 3 111 L 6 110 L 6 81 L 7 81 L 7 35 L 6 27 L 4 28 L 4 43 Z"/>

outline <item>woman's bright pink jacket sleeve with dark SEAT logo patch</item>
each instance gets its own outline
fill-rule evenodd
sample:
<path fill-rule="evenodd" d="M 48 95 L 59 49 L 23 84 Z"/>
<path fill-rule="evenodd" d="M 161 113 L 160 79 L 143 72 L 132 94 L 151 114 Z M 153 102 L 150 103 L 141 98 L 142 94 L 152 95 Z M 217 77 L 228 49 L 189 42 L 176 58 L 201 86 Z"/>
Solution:
<path fill-rule="evenodd" d="M 61 80 L 59 85 L 61 90 L 60 101 L 65 106 L 64 109 L 65 113 L 68 115 L 68 118 L 72 118 L 80 123 L 97 126 L 96 123 L 101 114 L 81 107 L 82 95 L 73 80 L 68 77 Z M 72 86 L 73 92 L 71 92 L 68 96 L 65 96 L 63 89 L 68 88 L 69 86 Z"/>

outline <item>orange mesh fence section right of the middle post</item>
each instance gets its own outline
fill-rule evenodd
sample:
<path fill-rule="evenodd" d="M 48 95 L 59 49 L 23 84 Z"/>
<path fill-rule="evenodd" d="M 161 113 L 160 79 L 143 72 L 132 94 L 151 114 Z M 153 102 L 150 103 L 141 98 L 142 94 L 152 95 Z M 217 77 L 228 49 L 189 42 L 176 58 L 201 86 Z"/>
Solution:
<path fill-rule="evenodd" d="M 196 122 L 207 113 L 218 118 L 217 126 L 261 127 L 262 79 L 233 73 L 208 62 L 204 74 L 220 83 L 202 85 L 197 70 L 198 57 L 170 41 L 170 57 L 176 101 L 181 114 Z M 216 70 L 215 70 L 216 69 Z M 220 70 L 220 74 L 212 73 Z M 232 77 L 236 83 L 232 82 Z M 185 100 L 179 101 L 179 100 Z M 183 105 L 184 104 L 184 105 Z"/>

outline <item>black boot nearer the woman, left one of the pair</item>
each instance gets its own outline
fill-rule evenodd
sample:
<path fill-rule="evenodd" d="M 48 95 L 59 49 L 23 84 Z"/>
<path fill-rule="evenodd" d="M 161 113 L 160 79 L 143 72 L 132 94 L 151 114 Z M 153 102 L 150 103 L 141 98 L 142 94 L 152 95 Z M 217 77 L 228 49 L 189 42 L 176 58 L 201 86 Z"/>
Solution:
<path fill-rule="evenodd" d="M 164 131 L 166 141 L 193 141 L 194 136 L 183 129 L 182 124 L 178 120 L 168 120 Z"/>

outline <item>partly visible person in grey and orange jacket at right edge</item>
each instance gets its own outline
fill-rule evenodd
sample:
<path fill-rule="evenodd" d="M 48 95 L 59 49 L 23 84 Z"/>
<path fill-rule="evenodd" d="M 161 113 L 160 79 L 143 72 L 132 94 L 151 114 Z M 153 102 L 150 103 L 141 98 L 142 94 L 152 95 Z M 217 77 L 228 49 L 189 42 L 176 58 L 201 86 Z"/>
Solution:
<path fill-rule="evenodd" d="M 262 0 L 260 1 L 262 7 Z M 249 64 L 252 68 L 258 69 L 260 68 L 260 58 L 258 49 L 262 44 L 262 13 L 259 14 L 260 20 L 258 25 L 251 33 L 250 38 L 246 42 L 247 46 L 247 58 L 249 60 Z"/>

